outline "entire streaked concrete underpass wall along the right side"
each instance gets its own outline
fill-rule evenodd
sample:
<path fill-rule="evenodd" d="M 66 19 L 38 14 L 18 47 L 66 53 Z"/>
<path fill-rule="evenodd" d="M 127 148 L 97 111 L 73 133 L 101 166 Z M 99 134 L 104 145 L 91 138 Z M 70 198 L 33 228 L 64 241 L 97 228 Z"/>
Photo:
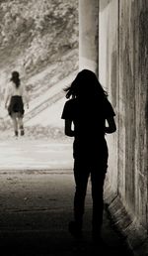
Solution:
<path fill-rule="evenodd" d="M 137 247 L 148 226 L 148 1 L 100 0 L 99 9 L 99 78 L 117 126 L 107 136 L 106 196 L 114 218 Z"/>

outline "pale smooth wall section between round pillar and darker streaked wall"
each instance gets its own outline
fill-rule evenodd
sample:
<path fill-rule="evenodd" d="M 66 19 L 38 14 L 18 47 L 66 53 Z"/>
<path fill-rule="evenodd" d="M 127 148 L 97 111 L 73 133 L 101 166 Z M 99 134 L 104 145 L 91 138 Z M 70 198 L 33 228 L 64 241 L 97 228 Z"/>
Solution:
<path fill-rule="evenodd" d="M 118 5 L 117 1 L 100 2 L 99 19 L 99 79 L 109 93 L 109 99 L 115 111 L 115 122 L 118 122 Z M 117 132 L 108 135 L 109 171 L 111 193 L 117 194 Z M 112 175 L 113 173 L 113 175 Z M 108 189 L 109 190 L 109 189 Z"/>

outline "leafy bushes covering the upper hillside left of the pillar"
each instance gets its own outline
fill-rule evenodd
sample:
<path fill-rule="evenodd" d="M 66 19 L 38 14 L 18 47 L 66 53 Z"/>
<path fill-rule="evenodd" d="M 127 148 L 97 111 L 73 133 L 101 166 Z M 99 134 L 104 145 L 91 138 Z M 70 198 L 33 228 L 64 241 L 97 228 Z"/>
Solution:
<path fill-rule="evenodd" d="M 78 47 L 76 0 L 1 0 L 0 67 L 31 76 Z"/>

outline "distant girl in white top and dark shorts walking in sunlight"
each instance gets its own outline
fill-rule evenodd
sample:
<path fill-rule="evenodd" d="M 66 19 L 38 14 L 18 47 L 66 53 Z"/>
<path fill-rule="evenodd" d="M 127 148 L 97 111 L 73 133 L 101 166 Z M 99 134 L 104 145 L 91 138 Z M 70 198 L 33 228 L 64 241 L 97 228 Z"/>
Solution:
<path fill-rule="evenodd" d="M 27 104 L 29 108 L 29 97 L 27 90 L 22 84 L 20 74 L 18 71 L 12 72 L 9 84 L 6 88 L 5 94 L 5 108 L 8 109 L 8 113 L 12 118 L 15 136 L 23 136 L 25 134 L 23 117 L 24 117 L 24 105 Z"/>

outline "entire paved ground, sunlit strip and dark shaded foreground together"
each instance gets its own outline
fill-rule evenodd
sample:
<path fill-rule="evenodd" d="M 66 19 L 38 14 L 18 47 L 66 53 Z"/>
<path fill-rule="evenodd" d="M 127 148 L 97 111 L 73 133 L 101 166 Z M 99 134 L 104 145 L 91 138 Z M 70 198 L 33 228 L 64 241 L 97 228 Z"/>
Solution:
<path fill-rule="evenodd" d="M 2 256 L 132 255 L 125 240 L 113 229 L 107 211 L 103 228 L 106 245 L 92 243 L 90 183 L 83 240 L 75 241 L 69 234 L 67 226 L 73 215 L 75 190 L 72 170 L 68 169 L 72 164 L 70 146 L 47 147 L 47 142 L 27 141 L 2 142 L 0 146 Z M 66 161 L 68 156 L 70 162 Z"/>

